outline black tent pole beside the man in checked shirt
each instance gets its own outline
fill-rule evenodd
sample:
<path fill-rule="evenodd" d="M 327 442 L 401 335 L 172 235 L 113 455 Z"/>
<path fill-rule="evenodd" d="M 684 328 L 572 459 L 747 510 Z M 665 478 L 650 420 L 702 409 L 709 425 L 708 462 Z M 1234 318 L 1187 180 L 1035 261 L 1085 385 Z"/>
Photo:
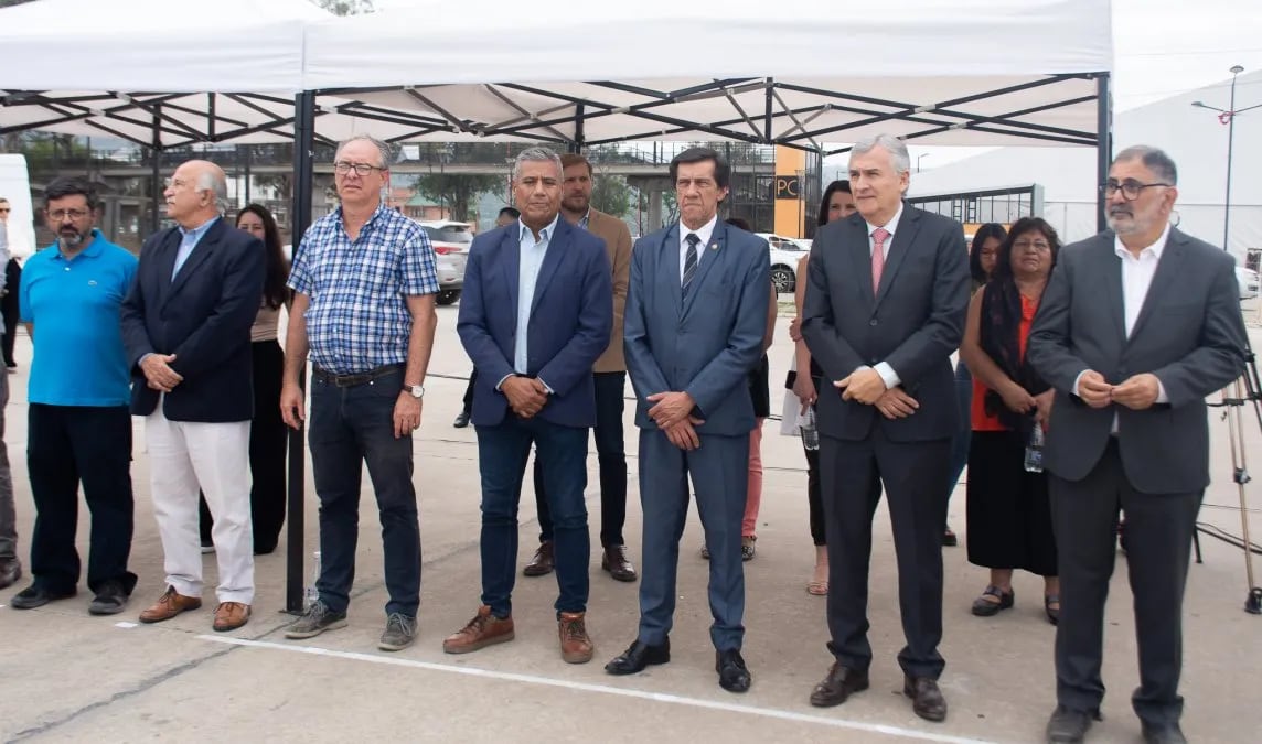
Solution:
<path fill-rule="evenodd" d="M 294 203 L 290 208 L 290 243 L 294 255 L 307 226 L 312 221 L 312 179 L 316 169 L 316 93 L 304 91 L 294 97 Z M 305 396 L 307 366 L 298 373 L 298 386 Z M 307 448 L 303 444 L 305 426 L 289 430 L 289 532 L 285 545 L 285 612 L 300 614 L 303 608 L 303 554 L 307 541 L 305 484 Z"/>

